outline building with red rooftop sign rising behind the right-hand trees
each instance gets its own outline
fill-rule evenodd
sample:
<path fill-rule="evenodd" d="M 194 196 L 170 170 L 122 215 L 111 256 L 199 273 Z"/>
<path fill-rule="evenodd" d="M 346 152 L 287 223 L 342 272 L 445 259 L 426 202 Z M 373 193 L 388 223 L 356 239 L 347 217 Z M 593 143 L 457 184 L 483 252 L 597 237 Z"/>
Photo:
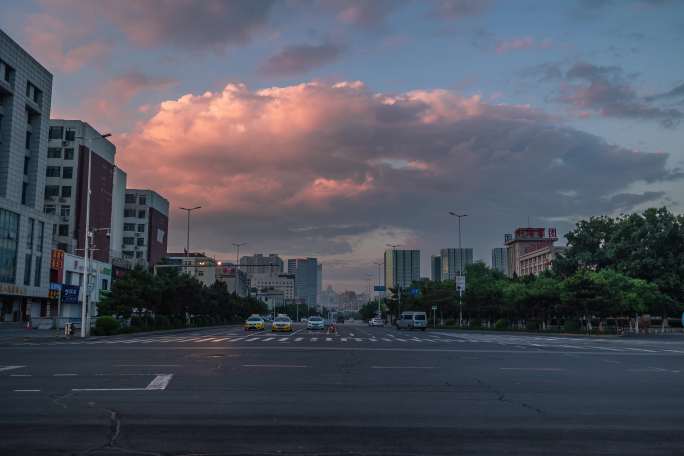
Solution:
<path fill-rule="evenodd" d="M 549 228 L 548 236 L 545 228 L 518 228 L 514 233 L 514 235 L 506 234 L 504 237 L 510 277 L 532 274 L 540 262 L 546 268 L 551 267 L 550 263 L 557 253 L 556 250 L 549 249 L 547 253 L 540 253 L 544 258 L 549 257 L 548 265 L 545 265 L 547 262 L 541 256 L 536 258 L 536 255 L 530 256 L 529 254 L 553 247 L 554 242 L 558 240 L 555 228 Z"/>

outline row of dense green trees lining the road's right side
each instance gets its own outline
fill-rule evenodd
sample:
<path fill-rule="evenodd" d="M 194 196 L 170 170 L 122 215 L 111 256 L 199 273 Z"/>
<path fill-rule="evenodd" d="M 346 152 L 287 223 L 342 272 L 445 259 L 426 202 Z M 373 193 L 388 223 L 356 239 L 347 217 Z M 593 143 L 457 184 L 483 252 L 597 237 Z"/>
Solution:
<path fill-rule="evenodd" d="M 470 326 L 513 322 L 528 329 L 550 326 L 587 330 L 628 324 L 650 314 L 678 317 L 684 310 L 684 216 L 666 208 L 641 214 L 594 217 L 577 223 L 566 235 L 568 248 L 552 271 L 508 278 L 484 263 L 466 268 L 462 298 L 452 281 L 415 282 L 410 290 L 392 290 L 385 312 L 422 310 L 447 321 L 459 311 Z M 377 302 L 362 309 L 374 315 Z"/>

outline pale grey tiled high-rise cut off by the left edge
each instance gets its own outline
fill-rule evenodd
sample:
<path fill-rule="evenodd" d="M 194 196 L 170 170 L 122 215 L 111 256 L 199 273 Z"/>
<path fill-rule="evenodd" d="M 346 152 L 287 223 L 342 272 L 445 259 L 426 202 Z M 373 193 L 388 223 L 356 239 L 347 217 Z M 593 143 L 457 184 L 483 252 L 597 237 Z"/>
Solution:
<path fill-rule="evenodd" d="M 0 321 L 51 316 L 43 212 L 52 74 L 0 30 Z"/>

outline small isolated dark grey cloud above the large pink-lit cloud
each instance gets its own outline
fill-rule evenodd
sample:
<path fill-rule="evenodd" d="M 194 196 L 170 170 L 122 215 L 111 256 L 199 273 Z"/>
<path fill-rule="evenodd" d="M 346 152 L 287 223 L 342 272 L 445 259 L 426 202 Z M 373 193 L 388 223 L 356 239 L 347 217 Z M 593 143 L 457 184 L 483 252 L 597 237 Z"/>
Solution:
<path fill-rule="evenodd" d="M 261 71 L 277 76 L 302 74 L 334 62 L 343 52 L 344 47 L 330 43 L 286 46 L 269 57 L 261 66 Z"/>

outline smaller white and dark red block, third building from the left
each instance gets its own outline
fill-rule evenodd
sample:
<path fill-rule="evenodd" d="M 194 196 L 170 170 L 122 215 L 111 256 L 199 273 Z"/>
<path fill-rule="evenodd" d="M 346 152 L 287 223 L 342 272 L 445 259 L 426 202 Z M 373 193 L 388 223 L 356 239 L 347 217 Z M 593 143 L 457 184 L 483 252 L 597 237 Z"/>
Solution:
<path fill-rule="evenodd" d="M 169 201 L 153 190 L 126 189 L 123 257 L 151 268 L 166 255 Z"/>

